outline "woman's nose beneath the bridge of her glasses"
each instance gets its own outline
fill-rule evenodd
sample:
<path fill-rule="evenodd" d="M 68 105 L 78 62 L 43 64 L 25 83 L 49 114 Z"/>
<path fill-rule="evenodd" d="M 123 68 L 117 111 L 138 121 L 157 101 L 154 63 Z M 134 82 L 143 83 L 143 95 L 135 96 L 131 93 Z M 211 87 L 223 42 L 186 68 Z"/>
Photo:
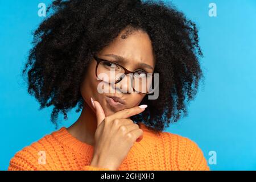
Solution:
<path fill-rule="evenodd" d="M 121 81 L 117 82 L 116 84 L 112 84 L 112 86 L 115 87 L 116 92 L 131 93 L 133 92 L 132 79 L 133 79 L 133 76 L 130 74 L 123 75 L 121 77 Z"/>

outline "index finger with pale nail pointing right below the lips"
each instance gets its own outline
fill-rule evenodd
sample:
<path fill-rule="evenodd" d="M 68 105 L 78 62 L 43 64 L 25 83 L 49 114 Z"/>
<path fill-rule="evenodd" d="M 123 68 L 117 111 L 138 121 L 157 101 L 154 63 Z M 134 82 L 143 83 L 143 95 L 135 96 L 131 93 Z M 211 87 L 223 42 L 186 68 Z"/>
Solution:
<path fill-rule="evenodd" d="M 133 115 L 142 113 L 142 111 L 144 111 L 146 107 L 147 105 L 141 105 L 141 106 L 131 107 L 129 109 L 123 109 L 121 111 L 118 111 L 117 113 L 110 115 L 109 118 L 111 119 L 129 118 Z"/>

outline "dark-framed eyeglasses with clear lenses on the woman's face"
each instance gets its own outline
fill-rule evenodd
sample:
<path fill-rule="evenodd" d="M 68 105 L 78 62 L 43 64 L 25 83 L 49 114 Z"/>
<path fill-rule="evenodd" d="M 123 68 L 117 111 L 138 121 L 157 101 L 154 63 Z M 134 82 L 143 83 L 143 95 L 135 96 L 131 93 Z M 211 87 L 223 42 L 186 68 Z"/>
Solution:
<path fill-rule="evenodd" d="M 131 72 L 122 65 L 114 63 L 112 61 L 100 59 L 96 55 L 93 58 L 97 61 L 95 73 L 98 80 L 105 81 L 109 84 L 117 84 L 126 75 L 131 78 L 131 85 L 133 92 L 150 94 L 154 92 L 152 85 L 154 80 L 152 79 L 153 73 L 146 73 L 143 71 Z"/>

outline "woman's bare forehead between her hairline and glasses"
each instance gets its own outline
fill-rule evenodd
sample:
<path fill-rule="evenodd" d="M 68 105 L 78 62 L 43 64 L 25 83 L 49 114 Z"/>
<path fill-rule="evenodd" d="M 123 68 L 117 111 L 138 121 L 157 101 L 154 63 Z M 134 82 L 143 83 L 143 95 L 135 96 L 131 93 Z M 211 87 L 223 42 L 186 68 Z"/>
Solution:
<path fill-rule="evenodd" d="M 125 30 L 121 31 L 118 37 L 100 53 L 119 55 L 129 60 L 131 64 L 146 63 L 154 68 L 153 48 L 148 34 L 143 31 L 133 31 L 125 38 L 122 38 L 123 35 L 126 35 Z"/>

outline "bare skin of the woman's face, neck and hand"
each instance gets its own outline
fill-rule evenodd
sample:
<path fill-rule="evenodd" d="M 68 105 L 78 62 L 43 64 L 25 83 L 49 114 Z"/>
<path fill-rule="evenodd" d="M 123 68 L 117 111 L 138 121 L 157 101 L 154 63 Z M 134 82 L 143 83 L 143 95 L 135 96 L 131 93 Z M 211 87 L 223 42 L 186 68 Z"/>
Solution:
<path fill-rule="evenodd" d="M 155 60 L 148 34 L 137 30 L 126 39 L 122 39 L 123 33 L 125 30 L 121 31 L 118 37 L 102 49 L 97 56 L 109 61 L 117 60 L 113 56 L 106 55 L 122 56 L 125 60 L 118 63 L 129 71 L 143 69 L 152 73 Z M 134 142 L 142 139 L 143 131 L 131 121 L 130 117 L 144 111 L 138 105 L 146 95 L 142 93 L 98 93 L 97 86 L 101 81 L 97 80 L 95 74 L 96 64 L 93 59 L 86 71 L 80 88 L 84 107 L 80 117 L 68 127 L 68 131 L 81 142 L 94 146 L 91 166 L 117 170 Z M 129 79 L 123 79 L 115 84 L 117 89 L 129 89 L 129 86 Z M 110 86 L 109 89 L 114 89 L 114 87 Z M 118 108 L 111 107 L 106 102 L 106 96 L 109 95 L 121 97 L 126 102 L 125 105 Z M 93 104 L 91 98 L 94 100 Z"/>

